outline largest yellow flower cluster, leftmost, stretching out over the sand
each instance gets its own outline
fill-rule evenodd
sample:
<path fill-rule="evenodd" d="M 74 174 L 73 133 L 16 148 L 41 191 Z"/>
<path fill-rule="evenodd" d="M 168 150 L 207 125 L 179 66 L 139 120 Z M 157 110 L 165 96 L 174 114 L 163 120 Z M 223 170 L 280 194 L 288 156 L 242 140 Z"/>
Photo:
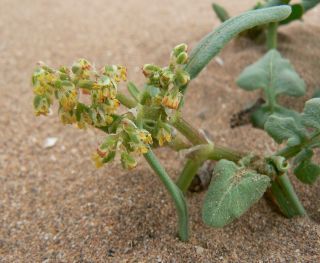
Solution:
<path fill-rule="evenodd" d="M 99 72 L 85 59 L 70 68 L 58 70 L 40 64 L 32 76 L 36 115 L 47 115 L 54 99 L 64 124 L 104 127 L 112 123 L 120 106 L 116 99 L 118 83 L 126 80 L 126 68 L 105 66 Z M 80 92 L 90 95 L 90 103 L 79 101 Z"/>

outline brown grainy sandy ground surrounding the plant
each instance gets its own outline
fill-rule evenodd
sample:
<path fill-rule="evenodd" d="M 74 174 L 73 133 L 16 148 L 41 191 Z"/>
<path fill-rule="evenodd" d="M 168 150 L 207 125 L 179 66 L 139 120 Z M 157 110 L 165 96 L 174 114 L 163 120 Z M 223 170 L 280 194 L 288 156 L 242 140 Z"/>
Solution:
<path fill-rule="evenodd" d="M 217 1 L 232 15 L 255 1 Z M 0 262 L 319 262 L 320 183 L 294 181 L 310 218 L 288 220 L 263 199 L 223 229 L 201 222 L 203 193 L 188 194 L 191 238 L 176 238 L 176 215 L 158 178 L 141 160 L 133 172 L 90 161 L 101 134 L 63 127 L 56 114 L 36 118 L 30 76 L 35 63 L 124 64 L 143 83 L 144 63 L 165 65 L 171 48 L 191 47 L 219 24 L 211 1 L 0 0 Z M 281 29 L 280 50 L 306 80 L 320 86 L 320 7 L 305 23 Z M 220 144 L 265 152 L 276 146 L 229 118 L 256 99 L 234 83 L 263 47 L 241 40 L 190 85 L 184 115 Z M 299 109 L 303 99 L 284 100 Z M 199 106 L 201 105 L 201 107 Z M 186 107 L 186 108 L 187 108 Z M 57 137 L 51 149 L 48 137 Z M 176 177 L 182 161 L 157 151 Z"/>

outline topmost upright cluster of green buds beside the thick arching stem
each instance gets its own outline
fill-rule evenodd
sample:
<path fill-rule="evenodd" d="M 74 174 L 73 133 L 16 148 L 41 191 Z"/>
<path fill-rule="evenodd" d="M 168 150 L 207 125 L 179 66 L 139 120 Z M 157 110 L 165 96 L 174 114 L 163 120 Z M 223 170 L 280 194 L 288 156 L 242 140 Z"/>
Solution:
<path fill-rule="evenodd" d="M 143 67 L 147 84 L 160 89 L 156 101 L 169 109 L 178 109 L 182 99 L 180 88 L 190 81 L 190 75 L 184 70 L 188 61 L 187 48 L 186 44 L 176 46 L 171 52 L 168 67 L 161 68 L 153 64 Z"/>

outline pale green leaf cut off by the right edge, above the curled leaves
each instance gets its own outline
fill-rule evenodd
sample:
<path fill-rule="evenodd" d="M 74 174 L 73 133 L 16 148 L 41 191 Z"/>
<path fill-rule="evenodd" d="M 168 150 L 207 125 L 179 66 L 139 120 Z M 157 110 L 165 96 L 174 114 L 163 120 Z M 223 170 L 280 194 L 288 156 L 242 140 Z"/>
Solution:
<path fill-rule="evenodd" d="M 305 103 L 302 123 L 306 127 L 320 131 L 320 98 L 313 98 Z"/>

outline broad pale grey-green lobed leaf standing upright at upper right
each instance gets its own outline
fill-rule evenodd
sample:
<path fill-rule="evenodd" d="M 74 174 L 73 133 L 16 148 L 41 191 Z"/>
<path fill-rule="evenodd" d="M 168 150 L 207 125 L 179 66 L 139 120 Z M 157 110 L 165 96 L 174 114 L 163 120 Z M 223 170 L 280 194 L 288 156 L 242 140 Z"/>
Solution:
<path fill-rule="evenodd" d="M 303 79 L 295 72 L 289 60 L 282 58 L 275 49 L 245 68 L 237 84 L 249 91 L 263 89 L 269 104 L 274 103 L 279 94 L 297 97 L 306 91 Z"/>

